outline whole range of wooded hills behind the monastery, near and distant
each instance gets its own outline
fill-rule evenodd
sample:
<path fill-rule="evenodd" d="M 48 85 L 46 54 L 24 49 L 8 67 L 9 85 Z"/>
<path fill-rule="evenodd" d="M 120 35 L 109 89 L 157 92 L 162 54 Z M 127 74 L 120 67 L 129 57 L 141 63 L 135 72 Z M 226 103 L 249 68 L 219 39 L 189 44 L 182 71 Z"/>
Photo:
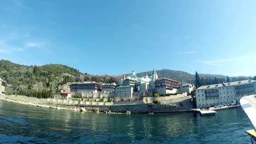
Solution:
<path fill-rule="evenodd" d="M 138 76 L 149 75 L 152 71 L 138 73 Z M 179 70 L 162 69 L 156 70 L 159 78 L 166 77 L 177 81 L 187 81 L 195 83 L 195 75 Z M 204 79 L 226 79 L 224 75 L 199 74 Z M 8 94 L 16 93 L 19 89 L 51 89 L 57 92 L 57 86 L 67 82 L 96 81 L 98 83 L 118 82 L 121 78 L 109 75 L 83 74 L 78 69 L 74 69 L 62 64 L 20 65 L 10 61 L 0 61 L 0 77 L 8 82 L 5 88 Z M 230 77 L 232 81 L 248 79 L 246 76 Z"/>

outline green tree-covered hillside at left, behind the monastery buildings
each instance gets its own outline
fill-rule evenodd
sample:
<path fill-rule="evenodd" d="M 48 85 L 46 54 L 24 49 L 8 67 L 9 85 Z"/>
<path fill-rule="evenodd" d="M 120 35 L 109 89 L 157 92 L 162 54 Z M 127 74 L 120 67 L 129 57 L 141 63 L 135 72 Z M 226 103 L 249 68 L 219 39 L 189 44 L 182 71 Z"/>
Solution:
<path fill-rule="evenodd" d="M 1 60 L 0 77 L 8 83 L 5 88 L 7 94 L 16 94 L 45 89 L 57 92 L 57 86 L 67 82 L 117 82 L 120 76 L 83 74 L 78 69 L 61 64 L 26 66 Z"/>

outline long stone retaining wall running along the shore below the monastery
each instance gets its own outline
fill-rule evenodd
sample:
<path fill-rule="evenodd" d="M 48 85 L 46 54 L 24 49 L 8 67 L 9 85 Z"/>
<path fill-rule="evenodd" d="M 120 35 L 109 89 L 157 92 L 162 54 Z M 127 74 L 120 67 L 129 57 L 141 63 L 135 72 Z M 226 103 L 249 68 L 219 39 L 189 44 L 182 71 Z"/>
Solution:
<path fill-rule="evenodd" d="M 95 102 L 95 101 L 75 101 L 75 100 L 62 100 L 62 99 L 38 99 L 26 96 L 15 95 L 0 95 L 1 98 L 12 99 L 15 101 L 25 101 L 31 104 L 65 104 L 61 108 L 72 109 L 72 107 L 94 107 L 98 108 L 100 112 L 112 111 L 112 112 L 126 112 L 132 113 L 158 113 L 158 112 L 179 112 L 190 111 L 189 108 L 171 105 L 160 104 L 136 104 L 136 105 L 113 105 L 112 103 Z M 56 106 L 55 106 L 56 107 Z"/>

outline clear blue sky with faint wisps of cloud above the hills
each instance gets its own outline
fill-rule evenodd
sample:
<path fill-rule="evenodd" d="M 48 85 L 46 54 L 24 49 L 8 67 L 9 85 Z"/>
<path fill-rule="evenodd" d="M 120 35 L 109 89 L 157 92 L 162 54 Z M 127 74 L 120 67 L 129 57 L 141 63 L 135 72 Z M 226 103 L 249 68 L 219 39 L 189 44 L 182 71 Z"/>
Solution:
<path fill-rule="evenodd" d="M 0 59 L 256 75 L 256 1 L 0 1 Z"/>

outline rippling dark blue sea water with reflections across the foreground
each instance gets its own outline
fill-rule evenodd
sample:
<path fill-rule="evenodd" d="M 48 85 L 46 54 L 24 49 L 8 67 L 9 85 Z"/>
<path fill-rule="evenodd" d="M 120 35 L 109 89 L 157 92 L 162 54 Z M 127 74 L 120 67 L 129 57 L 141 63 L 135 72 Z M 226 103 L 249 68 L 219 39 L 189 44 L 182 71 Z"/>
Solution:
<path fill-rule="evenodd" d="M 118 115 L 73 112 L 0 101 L 0 142 L 250 143 L 242 109 L 197 113 Z"/>

